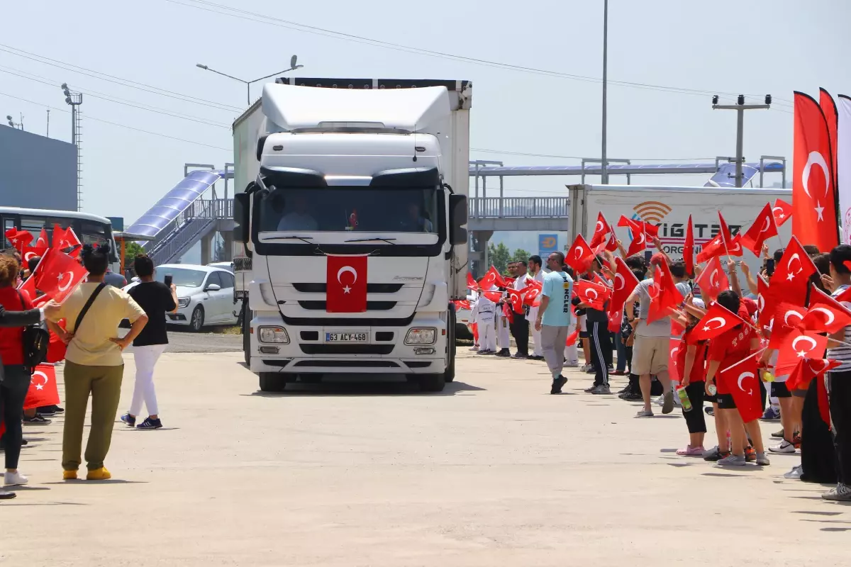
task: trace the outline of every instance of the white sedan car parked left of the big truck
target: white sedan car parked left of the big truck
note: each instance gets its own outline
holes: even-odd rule
[[[177,312],[167,313],[171,325],[185,325],[200,332],[208,325],[236,325],[242,309],[241,301],[233,303],[233,274],[226,269],[192,264],[157,266],[154,279],[165,281],[171,275],[177,286]],[[127,291],[139,285],[134,281]]]

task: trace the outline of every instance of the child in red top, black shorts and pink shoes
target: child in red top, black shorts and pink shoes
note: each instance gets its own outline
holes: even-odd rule
[[[691,302],[697,308],[704,307],[700,299],[691,299]],[[685,411],[683,408],[683,417],[686,418],[686,426],[688,426],[688,446],[678,450],[677,455],[703,456],[703,439],[706,434],[706,419],[703,415],[705,360],[706,346],[709,341],[696,340],[692,337],[694,326],[700,322],[697,317],[687,314],[685,322],[686,330],[677,349],[677,368],[683,369],[680,383],[688,394],[692,409]]]

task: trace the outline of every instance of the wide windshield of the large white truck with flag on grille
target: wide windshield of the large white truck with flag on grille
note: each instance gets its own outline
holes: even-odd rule
[[[273,190],[260,202],[260,232],[290,230],[437,234],[437,188]]]

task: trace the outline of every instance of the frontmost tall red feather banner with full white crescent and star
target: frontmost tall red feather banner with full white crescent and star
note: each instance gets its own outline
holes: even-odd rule
[[[819,103],[797,91],[793,146],[792,234],[819,250],[832,250],[839,232],[831,135]]]

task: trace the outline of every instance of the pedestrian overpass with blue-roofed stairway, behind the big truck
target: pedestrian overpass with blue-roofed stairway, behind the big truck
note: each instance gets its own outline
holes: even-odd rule
[[[631,165],[614,163],[609,166],[610,175],[625,175],[627,183],[631,176],[639,174],[711,173],[707,186],[733,186],[731,182],[734,164],[727,158],[717,158],[713,164],[648,164]],[[772,160],[772,161],[767,161]],[[594,160],[584,160],[581,166],[556,167],[503,167],[500,162],[471,162],[470,177],[475,179],[469,200],[469,223],[471,236],[471,260],[483,260],[488,241],[494,232],[500,231],[545,231],[568,230],[568,196],[505,196],[503,179],[528,175],[578,175],[585,183],[586,175],[599,175],[600,166]],[[597,160],[598,162],[598,160]],[[626,162],[621,160],[620,162]],[[224,170],[204,164],[186,164],[184,179],[163,196],[162,199],[130,225],[125,234],[127,240],[134,235],[146,239],[144,248],[154,264],[168,264],[181,258],[191,247],[201,242],[202,263],[212,261],[214,236],[219,233],[225,240],[225,252],[231,254],[233,222],[233,199],[228,195],[228,183],[233,177],[233,164]],[[193,167],[203,167],[192,169]],[[785,186],[785,159],[762,156],[759,163],[745,164],[745,181],[759,175],[762,186],[763,173],[782,173]],[[498,196],[488,196],[488,178],[497,178]],[[216,184],[224,182],[224,193],[220,196]],[[567,192],[567,191],[565,191]],[[142,238],[140,238],[142,240]]]

